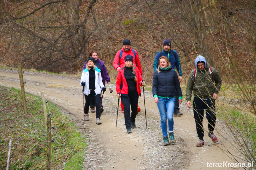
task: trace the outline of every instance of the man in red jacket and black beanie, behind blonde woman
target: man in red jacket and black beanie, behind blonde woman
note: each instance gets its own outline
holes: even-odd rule
[[[139,72],[142,75],[142,69],[141,69],[141,65],[140,65],[140,61],[139,61],[139,54],[137,53],[136,50],[131,48],[131,43],[130,43],[130,40],[128,40],[128,39],[125,39],[123,41],[123,48],[121,50],[117,51],[117,54],[113,61],[113,67],[117,71],[121,71],[121,68],[125,67],[125,56],[127,56],[127,55],[133,56],[133,66],[138,67]],[[122,108],[122,113],[124,113],[124,106],[123,106],[122,101],[121,101],[121,108]],[[138,105],[137,112],[138,113],[140,112],[139,105]]]

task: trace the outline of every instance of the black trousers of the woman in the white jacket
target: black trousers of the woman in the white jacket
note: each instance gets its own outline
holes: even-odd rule
[[[85,95],[85,114],[89,113],[91,98],[95,100],[96,118],[101,119],[101,94],[96,95],[94,90],[91,90],[89,95]]]

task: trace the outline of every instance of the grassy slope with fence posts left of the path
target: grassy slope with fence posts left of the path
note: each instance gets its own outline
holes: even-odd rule
[[[42,103],[41,99],[38,99]],[[9,169],[36,170],[46,167],[43,109],[33,95],[26,94],[26,101],[28,113],[24,114],[20,90],[0,86],[0,151],[6,149],[0,153],[0,170],[6,169],[10,139],[12,148]],[[87,146],[85,137],[81,136],[70,118],[62,114],[56,105],[48,104],[54,127],[51,169],[82,169]],[[21,158],[23,155],[25,156]]]

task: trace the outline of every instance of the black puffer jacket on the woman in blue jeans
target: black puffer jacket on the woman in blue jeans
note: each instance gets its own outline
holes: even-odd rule
[[[152,93],[161,97],[174,97],[177,93],[178,96],[182,96],[178,75],[174,69],[161,69],[154,72]],[[176,90],[175,90],[176,89]]]

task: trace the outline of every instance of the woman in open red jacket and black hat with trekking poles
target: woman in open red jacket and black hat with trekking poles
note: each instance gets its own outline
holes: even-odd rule
[[[118,72],[116,90],[117,97],[121,97],[124,105],[126,133],[131,133],[131,128],[136,128],[137,103],[141,95],[140,86],[145,85],[142,76],[136,67],[133,67],[133,56],[125,56],[125,67]],[[130,116],[131,104],[131,116]]]

